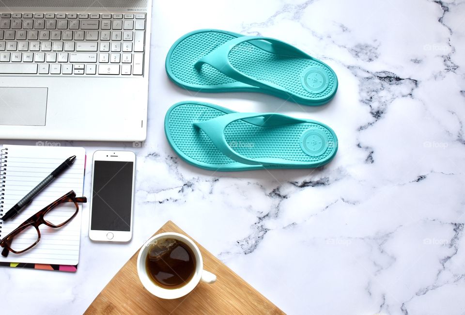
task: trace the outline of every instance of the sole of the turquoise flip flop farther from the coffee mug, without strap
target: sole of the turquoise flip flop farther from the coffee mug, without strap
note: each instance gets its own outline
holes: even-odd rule
[[[261,92],[304,105],[322,105],[331,100],[338,88],[334,71],[325,63],[308,58],[287,57],[271,53],[249,42],[231,50],[229,62],[238,71],[281,87],[264,89],[231,79],[208,64],[202,71],[194,64],[217,47],[242,34],[221,30],[187,33],[171,47],[166,71],[177,85],[198,92]]]

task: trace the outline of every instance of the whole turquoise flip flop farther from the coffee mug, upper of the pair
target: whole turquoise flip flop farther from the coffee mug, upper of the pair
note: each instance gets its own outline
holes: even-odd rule
[[[165,67],[174,83],[198,92],[261,92],[316,106],[338,89],[334,71],[296,47],[230,31],[187,33],[171,47]]]

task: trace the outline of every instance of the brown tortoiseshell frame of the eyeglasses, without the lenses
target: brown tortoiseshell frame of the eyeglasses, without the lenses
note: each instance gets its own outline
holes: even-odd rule
[[[56,207],[57,205],[60,205],[62,203],[74,203],[76,205],[76,212],[71,216],[71,218],[69,218],[68,220],[66,220],[66,221],[64,221],[64,222],[62,222],[62,223],[60,223],[58,225],[52,224],[49,221],[44,219],[44,216],[47,214],[48,211],[52,210],[54,207]],[[39,212],[37,212],[36,214],[31,216],[31,218],[29,218],[28,220],[21,223],[15,230],[13,230],[13,232],[11,232],[7,236],[3,237],[2,240],[0,240],[0,246],[3,247],[3,250],[1,251],[1,255],[4,256],[4,257],[7,257],[9,252],[14,252],[15,254],[20,254],[22,252],[26,252],[26,251],[30,250],[32,247],[37,245],[37,243],[40,241],[39,226],[41,224],[45,224],[45,225],[47,225],[49,227],[53,227],[53,228],[62,227],[63,225],[65,225],[69,221],[73,220],[74,217],[76,217],[76,215],[78,214],[78,211],[79,211],[78,203],[87,203],[87,198],[86,197],[76,197],[76,192],[74,192],[74,190],[71,190],[67,194],[63,195],[62,197],[60,197],[57,200],[55,200],[54,202],[52,202],[50,205],[47,205],[45,208],[43,208],[42,210],[40,210]],[[31,246],[29,246],[28,248],[26,248],[25,250],[22,250],[22,251],[13,250],[10,247],[11,243],[13,241],[13,238],[16,235],[18,235],[19,233],[21,233],[23,230],[25,230],[26,228],[30,227],[30,226],[35,227],[35,229],[37,230],[38,237],[37,237],[37,240],[35,241],[35,243],[32,244]]]

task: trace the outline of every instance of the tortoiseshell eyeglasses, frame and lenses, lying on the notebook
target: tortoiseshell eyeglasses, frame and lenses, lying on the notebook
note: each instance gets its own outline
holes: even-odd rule
[[[86,202],[86,197],[77,198],[74,190],[71,190],[5,236],[0,241],[0,246],[3,247],[1,255],[7,257],[9,252],[19,254],[30,250],[40,241],[39,226],[41,224],[52,228],[62,227],[76,217],[79,211],[78,203]]]

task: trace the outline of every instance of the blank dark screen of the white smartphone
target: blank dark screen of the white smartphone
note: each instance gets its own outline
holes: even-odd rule
[[[91,230],[131,230],[132,171],[133,162],[94,162]]]

